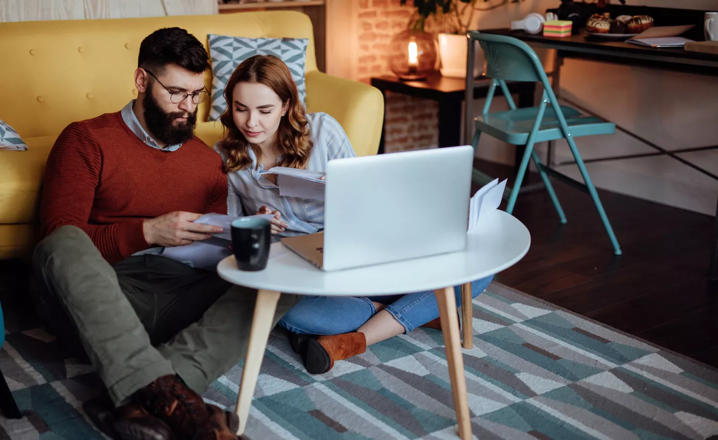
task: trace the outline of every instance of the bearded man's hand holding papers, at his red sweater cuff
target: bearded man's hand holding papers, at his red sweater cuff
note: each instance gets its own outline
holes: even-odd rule
[[[222,232],[219,226],[192,223],[200,217],[201,214],[177,211],[144,220],[144,239],[151,245],[182,246],[193,241],[207,240],[210,234]]]

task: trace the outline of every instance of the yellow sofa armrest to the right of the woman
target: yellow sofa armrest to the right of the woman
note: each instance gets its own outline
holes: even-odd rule
[[[377,88],[314,70],[307,73],[307,112],[322,111],[344,128],[357,156],[376,154],[384,122]]]

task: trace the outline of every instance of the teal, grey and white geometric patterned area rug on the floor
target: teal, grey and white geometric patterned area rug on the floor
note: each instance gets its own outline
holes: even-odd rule
[[[463,350],[477,439],[708,439],[718,370],[497,283],[474,301]],[[6,335],[0,368],[25,417],[0,439],[102,439],[81,402],[101,390],[42,329]],[[236,401],[241,365],[202,397]],[[309,375],[275,329],[246,434],[252,440],[457,439],[441,332],[416,329]]]

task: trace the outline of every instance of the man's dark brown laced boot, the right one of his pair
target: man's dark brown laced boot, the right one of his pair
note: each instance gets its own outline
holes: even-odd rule
[[[191,440],[210,421],[205,402],[177,375],[157,378],[136,393],[149,413],[167,423],[177,440]]]

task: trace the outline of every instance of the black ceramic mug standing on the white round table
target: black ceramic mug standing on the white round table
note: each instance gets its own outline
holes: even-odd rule
[[[232,251],[241,271],[261,271],[267,266],[271,229],[264,218],[232,220]]]

